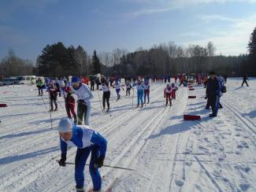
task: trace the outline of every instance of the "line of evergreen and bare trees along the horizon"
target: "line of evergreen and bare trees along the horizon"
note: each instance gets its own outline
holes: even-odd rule
[[[248,54],[239,56],[216,55],[213,42],[206,46],[190,45],[187,48],[174,42],[139,48],[134,52],[115,49],[112,52],[96,50],[90,56],[83,46],[65,46],[62,42],[46,45],[37,58],[20,59],[11,51],[0,63],[1,76],[89,76],[102,73],[106,76],[175,75],[215,71],[221,75],[256,76],[256,28],[250,35]]]

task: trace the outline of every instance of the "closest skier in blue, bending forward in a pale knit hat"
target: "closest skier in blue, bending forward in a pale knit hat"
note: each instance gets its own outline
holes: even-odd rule
[[[76,126],[69,118],[61,119],[58,124],[58,132],[61,141],[61,160],[58,161],[60,166],[65,167],[67,147],[76,146],[75,160],[75,179],[76,191],[84,191],[84,166],[87,158],[91,153],[89,171],[94,186],[94,191],[101,190],[102,179],[98,172],[106,157],[107,141],[97,131],[86,125]]]

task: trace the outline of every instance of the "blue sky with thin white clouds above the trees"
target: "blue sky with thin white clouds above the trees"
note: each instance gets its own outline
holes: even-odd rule
[[[256,0],[2,0],[0,59],[12,48],[35,61],[59,41],[89,54],[212,41],[217,54],[238,55],[255,27]]]

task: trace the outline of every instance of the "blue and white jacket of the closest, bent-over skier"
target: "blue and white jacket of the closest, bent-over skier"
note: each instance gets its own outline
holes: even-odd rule
[[[106,156],[106,138],[102,137],[97,131],[91,129],[86,125],[80,125],[76,127],[73,124],[72,127],[72,138],[66,142],[63,138],[61,140],[61,155],[66,155],[68,146],[76,146],[77,148],[83,149],[88,146],[98,146],[100,156]]]

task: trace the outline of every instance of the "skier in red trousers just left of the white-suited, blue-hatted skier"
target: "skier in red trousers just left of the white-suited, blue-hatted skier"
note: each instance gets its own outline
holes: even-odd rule
[[[72,119],[72,116],[73,116],[74,122],[75,124],[77,124],[77,118],[76,118],[76,112],[75,112],[76,100],[72,96],[72,91],[69,87],[65,86],[65,83],[63,80],[59,82],[59,86],[60,86],[61,96],[65,100],[65,109],[66,109],[67,115],[69,119]],[[72,116],[70,112],[72,113]]]

